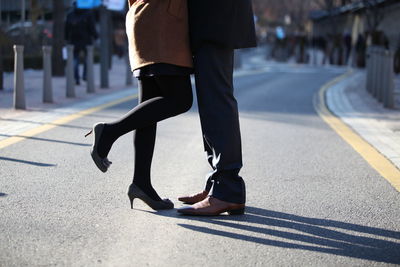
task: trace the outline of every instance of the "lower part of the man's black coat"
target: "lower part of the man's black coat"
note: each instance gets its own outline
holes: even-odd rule
[[[251,0],[188,0],[188,3],[194,51],[204,42],[235,49],[257,45]]]

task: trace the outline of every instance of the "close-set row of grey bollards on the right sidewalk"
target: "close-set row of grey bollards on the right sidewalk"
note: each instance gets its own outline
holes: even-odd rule
[[[367,49],[367,91],[385,108],[395,108],[394,54],[383,47]]]

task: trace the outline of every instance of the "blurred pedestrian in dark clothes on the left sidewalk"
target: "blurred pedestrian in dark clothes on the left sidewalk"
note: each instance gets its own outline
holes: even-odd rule
[[[95,19],[90,9],[79,9],[76,2],[67,15],[65,23],[65,39],[74,46],[74,76],[77,85],[80,84],[79,61],[81,53],[86,59],[86,46],[92,45],[98,34]],[[86,60],[83,61],[83,80],[86,80]]]

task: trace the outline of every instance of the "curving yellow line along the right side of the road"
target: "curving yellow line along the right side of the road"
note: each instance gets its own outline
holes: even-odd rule
[[[314,107],[318,115],[355,151],[357,151],[383,178],[400,192],[400,170],[361,136],[354,132],[342,120],[336,117],[327,107],[325,95],[328,88],[348,77],[349,71],[325,84],[318,92]]]

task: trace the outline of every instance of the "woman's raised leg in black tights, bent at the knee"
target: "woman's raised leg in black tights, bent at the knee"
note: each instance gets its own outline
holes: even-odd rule
[[[107,157],[112,144],[120,136],[184,113],[192,106],[189,76],[143,77],[140,84],[143,92],[158,91],[158,96],[143,101],[121,119],[105,125],[98,148],[100,157]]]

